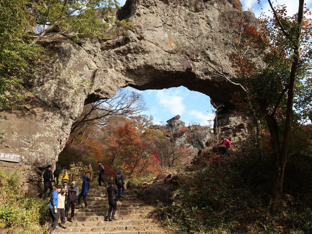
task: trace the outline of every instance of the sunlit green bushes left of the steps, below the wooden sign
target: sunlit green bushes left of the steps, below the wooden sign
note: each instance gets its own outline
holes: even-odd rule
[[[17,171],[0,171],[0,229],[8,233],[43,233],[48,207],[37,197],[24,195]]]

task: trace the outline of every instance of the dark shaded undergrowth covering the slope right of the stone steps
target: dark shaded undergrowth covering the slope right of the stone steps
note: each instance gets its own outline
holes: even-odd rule
[[[270,213],[268,195],[270,158],[258,161],[246,155],[214,160],[205,169],[184,176],[173,204],[158,204],[156,213],[175,234],[310,233],[311,159],[305,155],[286,165],[283,207],[275,215]]]

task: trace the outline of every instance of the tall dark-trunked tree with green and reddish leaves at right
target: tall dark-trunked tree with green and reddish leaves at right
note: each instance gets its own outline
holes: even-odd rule
[[[260,30],[242,24],[249,42],[240,44],[231,58],[246,91],[241,93],[242,98],[256,113],[263,115],[270,131],[273,151],[271,208],[275,212],[283,194],[295,97],[310,85],[312,24],[305,18],[310,12],[304,8],[304,0],[299,0],[298,13],[293,17],[287,16],[285,5],[275,9],[271,1],[268,2],[273,17],[263,16],[264,27]],[[260,61],[246,57],[249,48],[254,49]]]

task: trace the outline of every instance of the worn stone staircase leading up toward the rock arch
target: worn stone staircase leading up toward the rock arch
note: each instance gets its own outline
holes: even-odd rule
[[[73,234],[162,234],[157,223],[149,218],[152,207],[138,201],[136,195],[127,195],[117,201],[115,218],[106,221],[109,209],[105,187],[90,189],[87,195],[88,208],[76,208],[73,222],[66,222],[67,228],[56,229],[56,233]],[[81,200],[81,204],[84,204]],[[68,216],[70,216],[70,211]]]

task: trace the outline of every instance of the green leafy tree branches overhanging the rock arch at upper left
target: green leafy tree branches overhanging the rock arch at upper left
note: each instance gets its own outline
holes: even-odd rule
[[[47,52],[37,44],[46,33],[61,34],[77,42],[81,37],[108,39],[133,30],[132,23],[110,16],[118,4],[116,0],[0,0],[0,108],[22,106],[21,101],[30,94],[23,87],[24,79],[38,72],[32,64],[42,63],[40,58]],[[85,91],[90,82],[67,85],[75,92]]]

